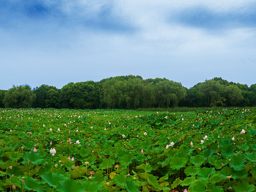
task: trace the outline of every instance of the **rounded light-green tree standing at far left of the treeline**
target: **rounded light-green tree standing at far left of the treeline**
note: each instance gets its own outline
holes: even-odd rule
[[[3,103],[6,108],[30,108],[35,101],[35,94],[29,85],[12,87],[5,93]]]

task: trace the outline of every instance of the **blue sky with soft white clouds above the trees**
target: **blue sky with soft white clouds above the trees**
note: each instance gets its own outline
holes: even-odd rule
[[[255,0],[1,0],[0,89],[114,76],[256,84]]]

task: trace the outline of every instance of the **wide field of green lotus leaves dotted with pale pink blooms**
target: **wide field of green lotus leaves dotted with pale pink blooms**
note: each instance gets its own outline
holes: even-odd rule
[[[256,191],[256,110],[0,109],[0,191]]]

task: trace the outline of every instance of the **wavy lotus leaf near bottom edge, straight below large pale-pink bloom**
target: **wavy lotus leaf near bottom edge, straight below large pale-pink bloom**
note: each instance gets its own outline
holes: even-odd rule
[[[52,186],[54,189],[56,189],[57,184],[61,180],[69,180],[69,177],[65,177],[64,175],[61,175],[59,173],[52,174],[52,172],[44,172],[41,175],[42,183],[48,183],[49,186]]]

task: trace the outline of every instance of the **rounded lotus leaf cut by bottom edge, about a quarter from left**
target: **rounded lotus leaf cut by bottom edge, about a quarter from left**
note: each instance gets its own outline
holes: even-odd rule
[[[56,187],[58,192],[84,192],[84,187],[78,180],[62,180]]]

